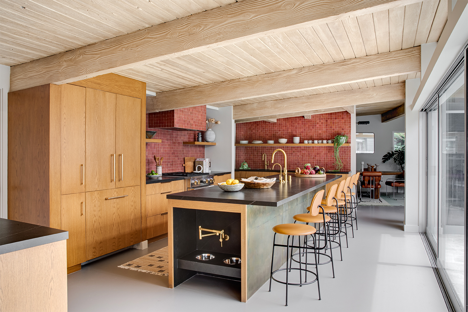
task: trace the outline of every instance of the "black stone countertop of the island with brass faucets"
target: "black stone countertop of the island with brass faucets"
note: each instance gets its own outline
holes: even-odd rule
[[[271,176],[276,177],[275,175]],[[237,192],[225,192],[218,186],[192,191],[168,194],[168,199],[181,199],[212,203],[234,203],[243,205],[278,207],[315,189],[339,179],[341,175],[326,178],[299,178],[292,175],[292,181],[276,182],[270,189],[242,188]]]

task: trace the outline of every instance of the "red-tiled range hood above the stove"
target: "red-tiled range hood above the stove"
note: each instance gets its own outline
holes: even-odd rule
[[[206,106],[148,113],[148,128],[173,131],[206,131]]]

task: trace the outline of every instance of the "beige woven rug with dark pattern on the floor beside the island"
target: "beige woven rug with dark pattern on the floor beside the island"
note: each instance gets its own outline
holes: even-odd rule
[[[119,268],[129,268],[135,271],[151,273],[162,276],[169,276],[168,247],[161,248],[139,257],[133,261],[118,266]]]

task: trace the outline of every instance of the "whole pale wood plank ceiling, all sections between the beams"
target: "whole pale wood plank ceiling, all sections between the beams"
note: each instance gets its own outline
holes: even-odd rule
[[[109,6],[109,2],[105,0],[44,3],[23,0],[21,5],[14,0],[2,0],[0,61],[9,66],[34,61],[234,2],[236,1],[127,0],[116,1]],[[171,90],[221,81],[235,83],[245,77],[331,64],[438,41],[447,20],[447,0],[407,3],[409,4],[364,15],[339,18],[333,22],[297,27],[234,44],[215,46],[115,73],[145,81],[149,91],[170,95]],[[210,105],[240,106],[398,84],[417,77],[420,77],[419,71]],[[356,113],[358,116],[381,114],[403,102],[404,100],[366,103],[357,106]],[[156,110],[158,109],[150,111]],[[333,110],[336,111],[336,108]]]

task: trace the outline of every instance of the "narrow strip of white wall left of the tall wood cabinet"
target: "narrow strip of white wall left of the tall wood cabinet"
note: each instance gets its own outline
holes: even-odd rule
[[[7,212],[7,156],[8,156],[8,92],[10,91],[10,67],[0,65],[0,218],[8,218]]]

